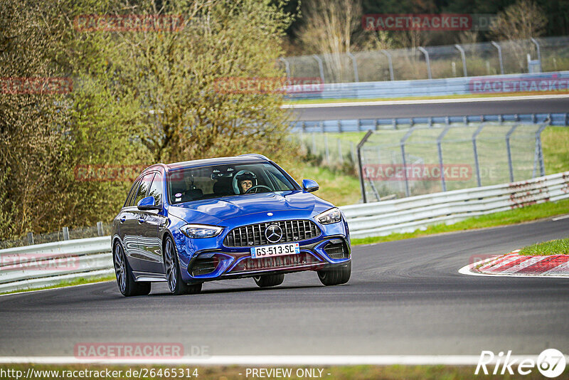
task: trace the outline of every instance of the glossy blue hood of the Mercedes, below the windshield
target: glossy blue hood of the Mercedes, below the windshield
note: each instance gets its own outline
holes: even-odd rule
[[[329,202],[304,191],[280,191],[186,202],[169,206],[168,212],[188,223],[218,224],[252,213],[293,211],[308,218],[333,207]]]

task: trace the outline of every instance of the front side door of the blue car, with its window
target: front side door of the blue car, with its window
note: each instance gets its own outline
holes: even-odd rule
[[[154,197],[154,204],[162,204],[162,174],[153,173],[154,177],[149,185],[146,196]],[[144,251],[139,256],[139,270],[141,273],[157,274],[164,273],[161,241],[159,238],[159,226],[164,224],[166,218],[163,210],[137,210],[137,223],[139,224],[140,250]]]

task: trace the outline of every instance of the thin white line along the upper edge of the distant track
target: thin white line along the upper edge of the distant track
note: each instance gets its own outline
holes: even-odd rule
[[[323,108],[323,107],[358,107],[358,106],[367,106],[367,105],[413,105],[413,104],[470,103],[470,102],[508,102],[511,100],[563,99],[567,97],[569,97],[569,95],[565,94],[528,95],[528,96],[522,95],[522,96],[504,96],[504,97],[459,97],[459,98],[450,98],[450,99],[374,100],[371,102],[285,104],[281,105],[280,107],[281,108]]]

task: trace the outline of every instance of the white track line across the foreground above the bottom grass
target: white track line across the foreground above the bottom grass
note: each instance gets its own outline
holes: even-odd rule
[[[513,355],[511,359],[533,359],[536,356]],[[569,359],[569,357],[568,357]],[[77,359],[75,357],[0,357],[0,364],[186,364],[186,365],[476,365],[479,355],[218,355],[182,357],[180,359]],[[492,363],[495,362],[492,361]]]

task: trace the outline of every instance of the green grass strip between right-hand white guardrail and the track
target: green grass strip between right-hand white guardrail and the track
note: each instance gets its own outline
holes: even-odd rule
[[[544,204],[534,204],[526,206],[523,209],[514,209],[509,211],[501,211],[491,213],[489,215],[477,216],[475,218],[467,218],[458,223],[446,225],[444,223],[428,226],[424,231],[415,231],[411,233],[391,233],[387,236],[374,236],[371,238],[352,239],[352,245],[383,243],[385,241],[396,241],[408,238],[419,238],[421,236],[429,236],[436,233],[456,232],[472,230],[474,228],[488,228],[497,226],[507,226],[509,224],[523,223],[527,221],[535,221],[541,218],[568,213],[569,199],[563,199],[557,202],[548,202]]]

